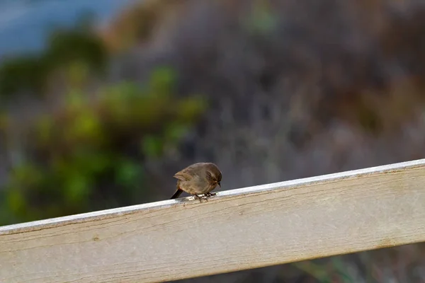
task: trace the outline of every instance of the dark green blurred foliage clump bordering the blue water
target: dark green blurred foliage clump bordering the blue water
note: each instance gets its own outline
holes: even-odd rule
[[[52,74],[67,70],[81,83],[90,71],[103,74],[108,53],[101,39],[85,25],[54,30],[40,54],[11,57],[0,65],[0,97],[10,98],[20,92],[40,95],[45,93]]]

